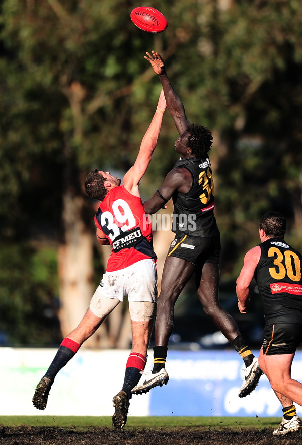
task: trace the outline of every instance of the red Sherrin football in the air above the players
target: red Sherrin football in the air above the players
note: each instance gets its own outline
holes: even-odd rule
[[[134,8],[130,18],[134,25],[147,32],[163,32],[168,26],[166,17],[157,9],[148,6]]]

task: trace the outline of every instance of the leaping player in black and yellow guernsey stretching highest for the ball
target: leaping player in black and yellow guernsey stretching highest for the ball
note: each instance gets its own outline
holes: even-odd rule
[[[159,75],[167,109],[180,135],[175,141],[175,150],[181,158],[168,173],[163,185],[144,203],[145,212],[152,214],[170,198],[173,199],[172,230],[175,239],[165,261],[158,299],[154,367],[152,373],[144,376],[144,382],[133,388],[132,393],[146,393],[168,382],[165,362],[174,323],[174,305],[195,273],[196,290],[205,313],[245,362],[244,381],[239,392],[239,397],[245,397],[256,388],[262,372],[235,320],[218,301],[221,247],[214,216],[214,184],[208,155],[213,137],[204,126],[189,122],[183,103],[168,79],[162,57],[154,51],[146,54],[146,60]]]

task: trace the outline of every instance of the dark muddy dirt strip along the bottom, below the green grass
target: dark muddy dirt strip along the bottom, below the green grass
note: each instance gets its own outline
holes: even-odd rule
[[[197,445],[213,443],[215,445],[296,445],[302,443],[302,431],[296,431],[281,437],[272,435],[267,428],[259,431],[242,428],[174,428],[168,429],[125,429],[116,431],[112,428],[77,428],[55,427],[0,427],[0,443],[5,445]]]

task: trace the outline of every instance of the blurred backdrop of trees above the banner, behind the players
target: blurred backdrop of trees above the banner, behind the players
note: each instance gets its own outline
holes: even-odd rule
[[[188,118],[213,131],[222,290],[236,299],[235,280],[265,211],[286,215],[287,240],[302,249],[299,2],[155,1],[169,22],[158,35],[133,25],[136,6],[1,4],[3,344],[57,345],[88,307],[109,251],[95,242],[97,203],[83,182],[94,168],[122,177],[133,164],[160,92],[145,51],[163,55]],[[173,166],[177,136],[165,114],[143,199]],[[170,239],[155,232],[160,270]],[[120,306],[86,346],[128,347],[129,316]]]

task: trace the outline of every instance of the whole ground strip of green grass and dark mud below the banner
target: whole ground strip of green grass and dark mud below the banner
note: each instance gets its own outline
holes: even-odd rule
[[[3,445],[300,445],[302,430],[272,432],[279,417],[132,417],[115,430],[111,417],[0,416]]]

